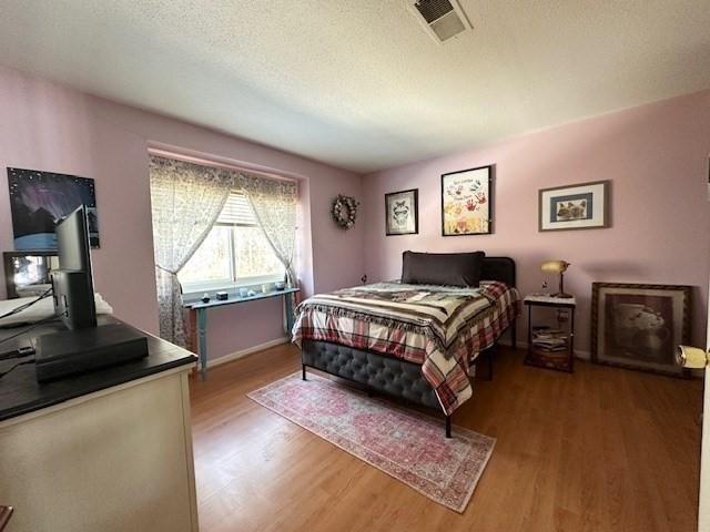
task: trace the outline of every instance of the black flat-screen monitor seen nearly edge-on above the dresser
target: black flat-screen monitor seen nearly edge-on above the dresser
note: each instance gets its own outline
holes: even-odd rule
[[[87,207],[57,224],[59,269],[51,273],[54,311],[68,329],[97,326]]]

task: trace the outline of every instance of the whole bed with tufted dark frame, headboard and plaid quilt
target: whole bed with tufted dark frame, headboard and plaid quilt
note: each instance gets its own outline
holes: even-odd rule
[[[450,416],[473,395],[470,376],[506,331],[515,347],[520,298],[515,262],[483,258],[478,288],[377,283],[313,296],[293,341],[306,368]]]

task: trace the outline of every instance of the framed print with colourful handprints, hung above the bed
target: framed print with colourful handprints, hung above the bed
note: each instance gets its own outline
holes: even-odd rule
[[[442,234],[493,233],[493,166],[442,175]]]

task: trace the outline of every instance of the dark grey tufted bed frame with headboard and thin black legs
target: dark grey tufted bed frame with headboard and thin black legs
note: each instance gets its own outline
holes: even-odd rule
[[[481,280],[498,280],[516,286],[515,262],[509,257],[485,257]],[[515,320],[509,327],[510,340],[516,345]],[[479,354],[478,360],[488,360],[489,378],[493,378],[494,345]],[[434,389],[422,375],[422,366],[373,351],[364,351],[328,341],[304,340],[301,346],[303,379],[306,368],[341,377],[364,385],[371,390],[386,393],[423,407],[440,406]],[[446,437],[452,437],[452,419],[446,416]]]

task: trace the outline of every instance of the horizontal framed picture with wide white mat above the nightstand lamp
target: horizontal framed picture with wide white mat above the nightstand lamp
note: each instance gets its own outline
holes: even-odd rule
[[[542,188],[539,231],[609,227],[609,181]]]

